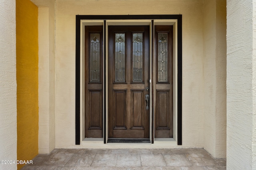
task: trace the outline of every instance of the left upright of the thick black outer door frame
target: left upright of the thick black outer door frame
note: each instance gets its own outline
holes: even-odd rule
[[[80,19],[76,16],[76,145],[80,145]]]

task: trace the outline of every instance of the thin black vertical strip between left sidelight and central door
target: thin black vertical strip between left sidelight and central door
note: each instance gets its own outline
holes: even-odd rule
[[[103,32],[104,32],[104,37],[103,37],[103,39],[104,39],[104,45],[103,45],[103,48],[104,48],[104,84],[103,84],[103,86],[104,86],[104,99],[103,99],[103,101],[104,101],[104,135],[103,135],[103,137],[104,137],[104,144],[106,144],[107,143],[107,137],[106,137],[106,134],[107,134],[107,121],[106,121],[106,20],[104,20],[104,25],[103,25]]]

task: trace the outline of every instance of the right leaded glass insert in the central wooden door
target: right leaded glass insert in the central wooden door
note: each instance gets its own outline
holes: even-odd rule
[[[132,82],[143,82],[143,33],[132,33]]]

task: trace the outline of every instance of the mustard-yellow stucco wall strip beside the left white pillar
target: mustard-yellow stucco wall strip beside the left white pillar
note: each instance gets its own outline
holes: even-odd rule
[[[16,64],[17,160],[32,160],[38,154],[38,7],[30,0],[16,0]]]

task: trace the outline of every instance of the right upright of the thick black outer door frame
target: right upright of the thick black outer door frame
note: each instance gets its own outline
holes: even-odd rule
[[[178,145],[182,145],[182,15],[178,16]]]

